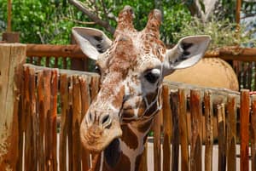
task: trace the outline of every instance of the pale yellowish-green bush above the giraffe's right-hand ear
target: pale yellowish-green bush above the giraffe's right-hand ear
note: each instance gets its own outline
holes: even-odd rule
[[[232,23],[228,19],[212,19],[207,23],[203,23],[198,18],[193,18],[189,22],[183,23],[183,26],[180,32],[175,33],[176,42],[179,38],[189,35],[210,35],[212,37],[212,43],[209,49],[236,46],[243,43],[255,43],[255,40],[250,39],[250,35],[238,37],[236,23]],[[244,32],[243,26],[241,26],[241,32]]]

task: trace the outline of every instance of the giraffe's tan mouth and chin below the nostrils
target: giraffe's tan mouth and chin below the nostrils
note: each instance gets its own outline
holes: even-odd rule
[[[108,128],[100,128],[98,125],[88,127],[85,123],[80,127],[80,138],[84,148],[92,152],[104,151],[113,140],[122,136],[122,129],[118,121],[113,120]]]

